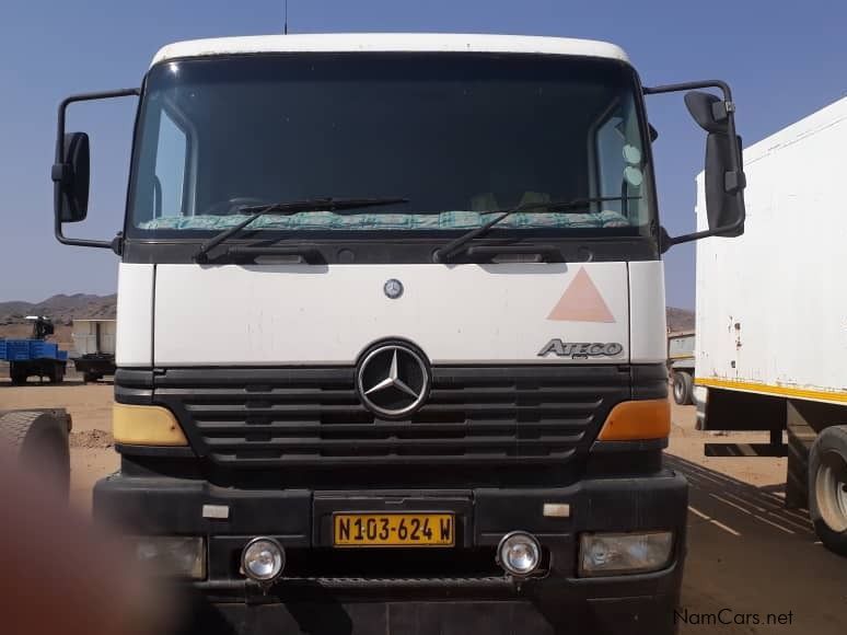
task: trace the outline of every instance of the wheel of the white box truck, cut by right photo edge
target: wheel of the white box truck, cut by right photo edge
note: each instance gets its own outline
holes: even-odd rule
[[[809,515],[824,546],[847,556],[847,426],[826,428],[812,446]]]

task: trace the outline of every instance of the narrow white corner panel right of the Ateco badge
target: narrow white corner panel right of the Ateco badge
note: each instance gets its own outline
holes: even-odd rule
[[[668,326],[664,265],[661,261],[629,263],[629,310],[631,362],[664,361],[668,357]]]

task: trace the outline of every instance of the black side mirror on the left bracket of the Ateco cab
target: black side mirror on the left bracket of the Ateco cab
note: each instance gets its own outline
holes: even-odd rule
[[[85,132],[65,135],[60,163],[53,165],[54,207],[59,222],[85,220],[89,211],[91,155]]]

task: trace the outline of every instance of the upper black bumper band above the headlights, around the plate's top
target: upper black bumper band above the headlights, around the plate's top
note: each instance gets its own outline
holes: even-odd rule
[[[313,522],[334,510],[387,509],[380,503],[384,498],[409,501],[393,503],[394,511],[434,509],[440,505],[472,517],[474,544],[486,544],[488,541],[480,540],[484,534],[514,529],[575,534],[678,528],[685,526],[687,513],[687,484],[672,472],[583,480],[566,487],[391,493],[235,489],[199,478],[130,477],[118,473],[95,485],[93,511],[96,518],[104,517],[140,533],[298,535],[305,536],[305,544],[329,546],[325,532],[318,532]],[[570,517],[545,517],[545,503],[570,505]],[[229,506],[229,517],[204,518],[204,505]]]

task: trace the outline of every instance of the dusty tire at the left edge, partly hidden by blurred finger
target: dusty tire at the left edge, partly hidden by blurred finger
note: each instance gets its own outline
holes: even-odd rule
[[[70,488],[68,425],[43,412],[13,412],[0,416],[0,447],[16,457],[19,465],[38,474],[62,496]]]

